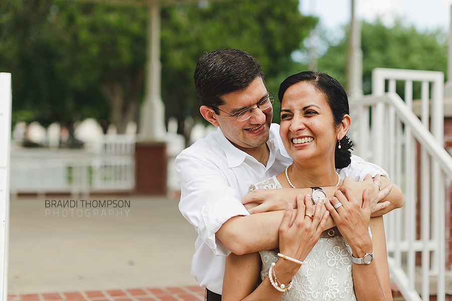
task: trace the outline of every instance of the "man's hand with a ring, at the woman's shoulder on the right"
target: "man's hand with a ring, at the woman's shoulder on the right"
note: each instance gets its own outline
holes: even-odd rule
[[[374,216],[374,213],[388,208],[391,204],[389,201],[383,201],[383,199],[391,192],[393,185],[388,184],[384,186],[380,175],[376,175],[374,178],[371,175],[367,175],[363,182],[355,182],[352,178],[345,178],[342,186],[351,187],[357,199],[364,199],[363,192],[368,188],[372,216]]]

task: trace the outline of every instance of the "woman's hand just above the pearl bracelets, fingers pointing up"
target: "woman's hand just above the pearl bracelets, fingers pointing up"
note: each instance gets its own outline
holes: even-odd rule
[[[304,201],[303,197],[297,196],[297,207],[291,223],[293,206],[286,206],[279,227],[279,250],[284,255],[303,261],[318,241],[329,214],[321,202],[313,206],[309,195],[304,197]]]

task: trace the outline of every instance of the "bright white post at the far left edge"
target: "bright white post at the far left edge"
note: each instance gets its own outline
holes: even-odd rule
[[[0,73],[0,297],[8,300],[11,73]]]

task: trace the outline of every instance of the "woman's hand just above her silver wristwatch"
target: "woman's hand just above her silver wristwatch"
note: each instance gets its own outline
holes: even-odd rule
[[[345,194],[344,194],[344,193]],[[349,187],[334,193],[334,197],[325,203],[337,229],[352,248],[355,257],[372,252],[372,240],[369,235],[371,206],[369,190],[363,193],[363,200],[355,197]]]

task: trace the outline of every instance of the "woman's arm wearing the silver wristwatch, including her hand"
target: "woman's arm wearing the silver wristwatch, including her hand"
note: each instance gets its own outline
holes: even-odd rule
[[[353,196],[350,189],[344,191],[345,195],[342,192],[336,193],[335,197],[325,204],[326,208],[352,248],[354,257],[360,258],[366,253],[374,252],[374,259],[370,264],[352,265],[357,300],[392,300],[383,218],[378,217],[370,222],[370,200],[367,191],[362,202]],[[339,203],[342,205],[338,205]],[[369,225],[372,239],[368,231]]]

